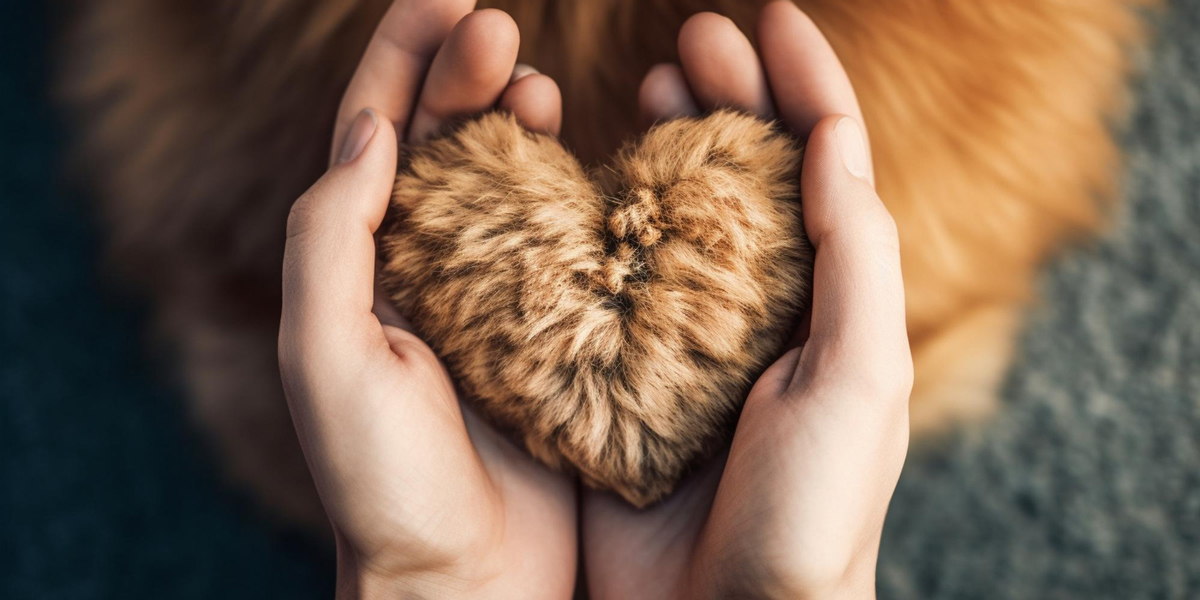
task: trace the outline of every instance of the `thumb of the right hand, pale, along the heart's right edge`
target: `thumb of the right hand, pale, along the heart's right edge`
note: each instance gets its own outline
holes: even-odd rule
[[[856,121],[820,121],[800,172],[804,227],[816,251],[812,318],[802,361],[821,362],[822,376],[902,385],[911,382],[912,359],[900,242],[866,172],[866,148]]]

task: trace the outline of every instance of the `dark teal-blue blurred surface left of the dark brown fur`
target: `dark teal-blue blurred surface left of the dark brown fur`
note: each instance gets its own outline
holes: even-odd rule
[[[329,598],[228,491],[65,185],[42,2],[0,19],[0,598]]]

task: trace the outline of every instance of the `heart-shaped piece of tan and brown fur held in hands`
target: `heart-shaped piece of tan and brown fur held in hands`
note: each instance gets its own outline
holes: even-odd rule
[[[487,418],[644,506],[728,442],[809,304],[799,158],[721,110],[589,176],[485,114],[406,150],[382,281]]]

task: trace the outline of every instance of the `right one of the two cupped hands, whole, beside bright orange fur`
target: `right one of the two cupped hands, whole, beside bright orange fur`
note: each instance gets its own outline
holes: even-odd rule
[[[874,598],[908,442],[912,358],[895,224],[875,193],[862,113],[838,58],[791,2],[768,5],[760,55],[732,22],[691,18],[682,67],[652,70],[648,121],[734,106],[806,138],[800,193],[816,250],[799,348],[755,384],[728,452],[662,504],[584,492],[595,599]]]

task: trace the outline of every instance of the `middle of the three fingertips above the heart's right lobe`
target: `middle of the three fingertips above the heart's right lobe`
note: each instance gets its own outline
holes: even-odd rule
[[[679,30],[679,62],[702,107],[774,113],[758,55],[728,18],[712,12],[689,18]]]

